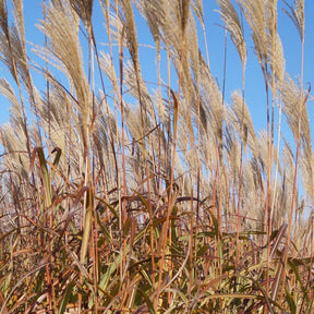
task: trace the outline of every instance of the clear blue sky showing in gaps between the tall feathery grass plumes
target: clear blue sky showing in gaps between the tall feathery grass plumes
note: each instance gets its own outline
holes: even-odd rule
[[[97,1],[95,1],[97,2]],[[204,0],[204,17],[206,23],[207,32],[207,43],[209,50],[209,61],[210,70],[213,75],[217,77],[220,86],[222,84],[222,71],[224,71],[224,40],[225,31],[217,24],[222,25],[220,15],[217,10],[217,5],[214,0]],[[293,1],[288,1],[293,4]],[[26,39],[38,45],[44,44],[44,36],[35,27],[38,24],[38,19],[41,19],[41,7],[39,5],[41,1],[39,0],[26,0],[24,1],[24,14],[25,14],[25,28],[26,28]],[[301,65],[301,46],[299,40],[298,32],[288,17],[288,15],[281,10],[283,2],[278,0],[278,32],[281,37],[285,58],[286,58],[286,69],[292,78],[299,77],[300,65]],[[97,39],[99,43],[106,43],[106,37],[104,36],[104,20],[100,10],[94,10],[95,21],[99,21],[99,26],[97,27]],[[138,21],[138,41],[141,44],[154,44],[152,36],[145,27],[145,21],[135,14]],[[246,38],[250,38],[250,32],[246,28]],[[314,1],[305,0],[305,68],[304,68],[304,83],[310,82],[313,85],[314,82]],[[203,35],[200,32],[200,41],[202,46]],[[98,45],[99,49],[106,51],[105,46]],[[29,51],[29,49],[28,49]],[[106,51],[107,52],[107,51]],[[257,58],[253,52],[253,44],[249,41],[247,45],[247,65],[246,65],[246,84],[245,84],[245,99],[250,107],[251,114],[253,118],[254,125],[257,130],[265,129],[266,126],[266,99],[265,99],[265,86],[263,81],[263,75],[261,68],[257,62]],[[157,82],[155,76],[155,70],[152,69],[152,64],[155,64],[155,52],[149,48],[140,49],[140,61],[143,69],[144,78],[147,81]],[[153,63],[152,63],[153,62]],[[2,77],[9,77],[8,72],[3,70],[3,64],[0,65],[0,75]],[[35,84],[40,89],[43,80],[40,76],[35,74]],[[238,53],[231,43],[228,40],[228,59],[227,59],[227,89],[226,89],[226,100],[228,101],[231,92],[241,88],[241,68]],[[313,87],[314,88],[314,87]],[[313,102],[309,102],[309,116],[313,120],[314,109],[312,109]],[[8,120],[10,105],[0,96],[0,123]],[[314,129],[314,128],[313,128]]]

